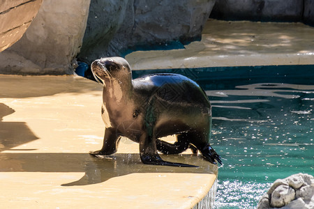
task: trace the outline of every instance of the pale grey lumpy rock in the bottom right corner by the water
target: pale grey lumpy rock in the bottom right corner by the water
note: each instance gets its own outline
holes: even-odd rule
[[[276,180],[257,206],[257,209],[266,208],[314,208],[313,176],[298,173]]]

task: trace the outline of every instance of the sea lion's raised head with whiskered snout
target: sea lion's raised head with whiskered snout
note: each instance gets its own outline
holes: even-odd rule
[[[131,77],[128,61],[118,56],[96,59],[91,63],[91,72],[97,80],[103,82],[104,86],[107,82],[112,82],[112,79],[126,82],[124,79]]]

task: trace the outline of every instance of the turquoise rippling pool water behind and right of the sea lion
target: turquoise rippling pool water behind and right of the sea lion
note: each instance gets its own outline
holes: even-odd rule
[[[213,106],[211,145],[223,157],[215,208],[256,208],[278,178],[314,175],[314,65],[135,70],[195,80]],[[306,75],[306,76],[304,76]]]

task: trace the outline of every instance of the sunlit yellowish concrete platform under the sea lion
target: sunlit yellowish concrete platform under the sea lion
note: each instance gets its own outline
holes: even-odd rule
[[[142,164],[126,138],[114,155],[89,155],[103,143],[96,82],[0,75],[0,89],[1,208],[191,208],[216,179],[218,168],[190,152],[162,157],[198,168]]]

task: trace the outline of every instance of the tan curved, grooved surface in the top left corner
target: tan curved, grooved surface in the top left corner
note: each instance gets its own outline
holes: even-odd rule
[[[0,3],[0,52],[19,40],[36,16],[42,0],[2,0]]]

